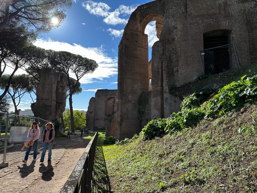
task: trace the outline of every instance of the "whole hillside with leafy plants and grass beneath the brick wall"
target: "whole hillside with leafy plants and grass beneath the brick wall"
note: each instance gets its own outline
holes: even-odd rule
[[[173,88],[188,92],[180,112],[115,145],[99,140],[93,192],[256,193],[255,72],[251,65]],[[210,84],[216,95],[199,92]]]

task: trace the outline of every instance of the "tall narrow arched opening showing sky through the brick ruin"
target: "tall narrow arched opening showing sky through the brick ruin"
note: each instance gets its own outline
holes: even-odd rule
[[[149,89],[152,90],[152,46],[159,40],[163,27],[163,18],[158,14],[149,14],[143,21],[141,29],[148,36],[148,83]]]

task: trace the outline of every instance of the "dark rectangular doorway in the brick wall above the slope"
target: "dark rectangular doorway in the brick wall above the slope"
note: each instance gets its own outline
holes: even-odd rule
[[[229,44],[229,30],[216,30],[203,34],[205,74],[218,74],[230,69]]]

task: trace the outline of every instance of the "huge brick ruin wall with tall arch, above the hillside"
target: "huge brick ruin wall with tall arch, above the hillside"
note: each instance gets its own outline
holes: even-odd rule
[[[257,23],[254,0],[156,0],[131,14],[118,47],[118,99],[116,138],[130,138],[141,131],[141,118],[168,117],[180,110],[181,100],[171,95],[175,86],[194,81],[204,73],[198,50],[204,36],[228,33],[240,66],[257,60]],[[149,77],[146,25],[156,21],[159,41],[152,46],[152,77]],[[235,54],[229,68],[238,68]],[[149,90],[145,115],[138,112],[139,96]],[[146,82],[147,81],[147,82]],[[150,112],[150,113],[149,113]]]

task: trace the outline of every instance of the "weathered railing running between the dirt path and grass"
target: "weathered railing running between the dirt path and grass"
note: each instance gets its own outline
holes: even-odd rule
[[[92,174],[96,153],[98,132],[93,136],[60,193],[89,193],[92,186]]]

